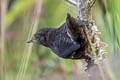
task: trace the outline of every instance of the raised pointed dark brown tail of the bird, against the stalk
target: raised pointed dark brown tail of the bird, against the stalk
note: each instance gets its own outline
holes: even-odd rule
[[[69,13],[67,13],[66,23],[68,26],[68,32],[73,40],[76,40],[78,36],[83,33],[82,28],[86,26],[85,21],[73,18]]]

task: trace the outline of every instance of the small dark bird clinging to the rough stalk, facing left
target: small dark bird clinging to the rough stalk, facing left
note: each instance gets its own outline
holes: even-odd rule
[[[84,28],[86,21],[73,18],[68,13],[66,22],[59,28],[43,28],[34,34],[27,43],[35,42],[50,48],[56,55],[64,59],[85,59],[88,40]]]

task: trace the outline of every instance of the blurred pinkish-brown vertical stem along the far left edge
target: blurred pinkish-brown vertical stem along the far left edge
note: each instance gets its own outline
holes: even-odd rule
[[[6,0],[1,0],[1,80],[5,80],[5,14]]]

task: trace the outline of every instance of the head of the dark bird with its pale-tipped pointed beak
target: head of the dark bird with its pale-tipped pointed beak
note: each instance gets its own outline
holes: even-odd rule
[[[27,40],[27,43],[37,43],[37,44],[41,44],[44,46],[48,46],[47,44],[47,35],[48,35],[48,29],[44,28],[44,29],[40,29],[39,31],[37,31],[31,39]]]

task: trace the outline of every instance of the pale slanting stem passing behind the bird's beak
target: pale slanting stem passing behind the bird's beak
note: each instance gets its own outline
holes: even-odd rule
[[[39,24],[39,17],[40,17],[40,13],[41,13],[41,9],[42,9],[42,0],[37,0],[36,4],[35,4],[35,11],[34,11],[34,19],[33,19],[33,23],[32,23],[32,35],[36,32],[38,24]],[[29,34],[31,34],[29,33]],[[24,50],[24,55],[23,55],[23,59],[21,62],[21,66],[17,75],[17,80],[24,80],[25,78],[25,73],[27,71],[27,67],[28,67],[28,62],[29,62],[29,58],[31,55],[31,51],[32,51],[32,45],[33,44],[26,44],[26,48]]]

